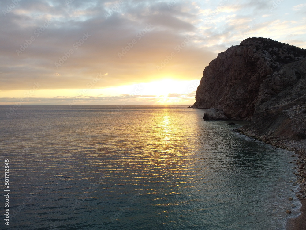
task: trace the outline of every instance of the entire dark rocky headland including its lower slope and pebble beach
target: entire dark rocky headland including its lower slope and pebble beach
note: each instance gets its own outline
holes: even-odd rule
[[[297,197],[306,209],[305,102],[306,50],[267,38],[248,38],[219,53],[204,69],[191,107],[209,109],[204,117],[212,118],[205,120],[250,121],[237,131],[295,151],[299,160],[290,163],[297,169]],[[299,218],[306,220],[305,212]],[[291,228],[306,229],[306,221],[302,222],[290,223]]]

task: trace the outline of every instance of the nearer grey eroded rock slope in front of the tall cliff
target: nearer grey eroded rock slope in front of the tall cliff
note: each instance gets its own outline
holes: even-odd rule
[[[286,64],[264,80],[252,122],[240,130],[268,139],[306,139],[306,59]]]

